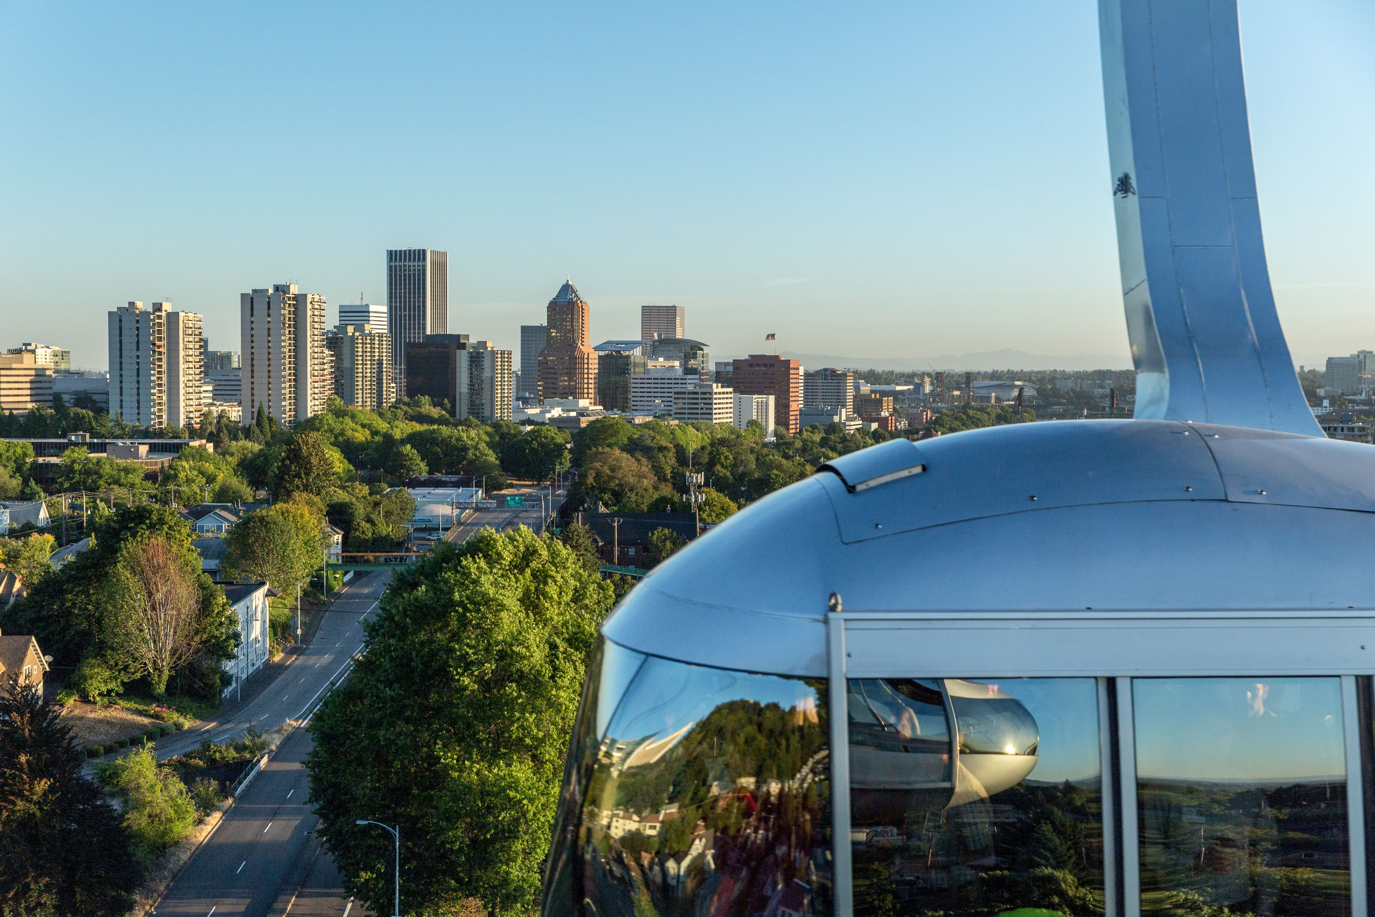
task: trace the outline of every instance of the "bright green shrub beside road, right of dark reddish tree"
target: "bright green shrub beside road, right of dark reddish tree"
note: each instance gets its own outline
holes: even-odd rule
[[[170,769],[158,766],[151,748],[99,764],[96,775],[120,795],[124,825],[146,865],[191,833],[195,803],[186,784]]]

